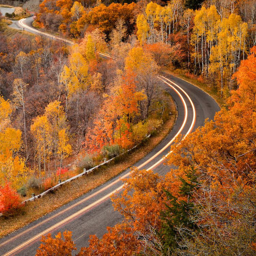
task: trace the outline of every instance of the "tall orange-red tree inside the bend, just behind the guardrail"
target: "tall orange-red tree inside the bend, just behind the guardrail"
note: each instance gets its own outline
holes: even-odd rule
[[[95,152],[104,145],[115,143],[123,148],[129,147],[133,143],[131,128],[139,114],[138,102],[143,99],[145,95],[136,91],[134,76],[128,72],[103,102],[100,118],[87,134],[85,148]]]

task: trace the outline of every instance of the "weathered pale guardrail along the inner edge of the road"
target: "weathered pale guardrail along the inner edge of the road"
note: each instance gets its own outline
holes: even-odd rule
[[[146,138],[150,138],[150,136],[151,136],[151,134],[149,134],[148,136],[146,136]],[[27,199],[27,200],[25,200],[25,201],[23,201],[23,203],[26,203],[26,202],[29,202],[29,201],[34,201],[34,200],[36,200],[36,199],[39,199],[39,198],[41,198],[41,197],[47,195],[49,192],[51,192],[51,191],[57,189],[59,186],[62,186],[62,185],[64,185],[64,184],[68,183],[68,182],[71,182],[71,181],[73,181],[73,180],[79,178],[79,177],[82,177],[83,175],[87,175],[88,173],[93,172],[95,169],[99,168],[100,166],[106,165],[107,163],[113,161],[113,160],[116,159],[117,157],[122,156],[122,155],[124,155],[124,154],[130,152],[131,150],[133,150],[134,148],[138,147],[139,145],[140,145],[140,144],[137,144],[137,145],[135,145],[134,147],[130,148],[129,150],[127,150],[127,151],[125,151],[125,152],[119,154],[118,156],[115,156],[115,157],[113,157],[113,158],[111,158],[111,159],[109,159],[109,160],[107,160],[107,161],[104,161],[103,163],[100,163],[99,165],[97,165],[97,166],[95,166],[95,167],[93,167],[93,168],[91,168],[91,169],[89,169],[89,170],[85,170],[84,172],[79,173],[79,174],[77,174],[77,175],[75,175],[75,176],[69,178],[69,179],[66,180],[66,181],[62,181],[62,182],[60,182],[59,184],[55,185],[54,187],[51,187],[51,188],[45,190],[43,193],[41,193],[41,194],[39,194],[39,195],[37,195],[37,196],[31,197],[31,198],[29,198],[29,199]]]

